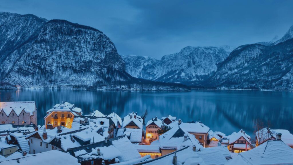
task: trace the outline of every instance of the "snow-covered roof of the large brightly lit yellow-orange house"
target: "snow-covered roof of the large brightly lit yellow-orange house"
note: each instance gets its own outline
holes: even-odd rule
[[[47,110],[47,113],[50,113],[52,111],[71,111],[75,116],[78,116],[78,114],[76,113],[82,114],[81,108],[75,107],[74,104],[71,104],[69,102],[62,102],[60,104],[56,104],[53,108]]]

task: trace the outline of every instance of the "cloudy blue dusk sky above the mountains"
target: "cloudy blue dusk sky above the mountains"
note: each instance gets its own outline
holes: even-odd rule
[[[281,38],[293,1],[1,0],[0,11],[65,19],[97,28],[120,55],[161,59],[186,46],[237,47]]]

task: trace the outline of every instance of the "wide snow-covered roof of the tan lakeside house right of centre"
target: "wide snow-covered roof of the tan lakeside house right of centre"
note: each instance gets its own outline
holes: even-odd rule
[[[189,133],[202,133],[206,134],[209,132],[209,127],[207,127],[202,122],[194,122],[194,123],[183,123],[181,121],[181,124],[178,124],[178,120],[172,122],[169,124],[170,127],[176,127],[179,126],[181,129],[189,132]]]

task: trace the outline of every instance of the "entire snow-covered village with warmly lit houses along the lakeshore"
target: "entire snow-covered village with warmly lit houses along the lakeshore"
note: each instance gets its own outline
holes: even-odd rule
[[[65,101],[47,110],[43,126],[36,114],[33,101],[0,102],[1,165],[293,164],[293,134],[284,129],[225,134],[172,115],[83,114]]]

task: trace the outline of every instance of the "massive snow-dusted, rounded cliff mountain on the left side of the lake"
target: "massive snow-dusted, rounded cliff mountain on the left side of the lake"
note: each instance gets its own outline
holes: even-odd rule
[[[131,79],[113,42],[97,29],[34,15],[1,13],[0,20],[2,83],[94,86]]]

